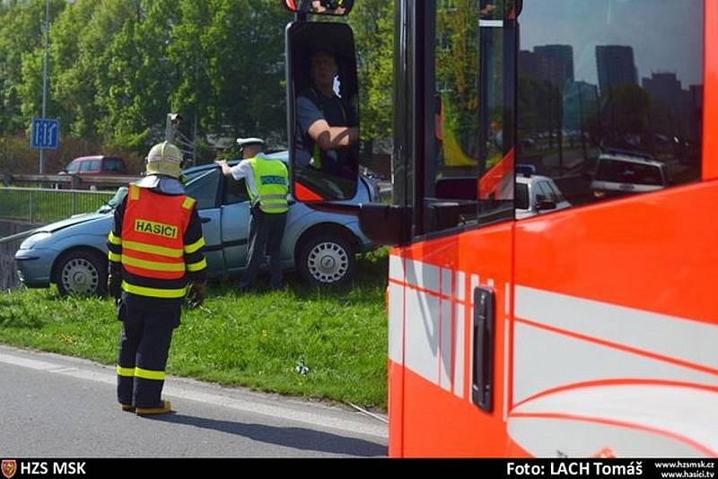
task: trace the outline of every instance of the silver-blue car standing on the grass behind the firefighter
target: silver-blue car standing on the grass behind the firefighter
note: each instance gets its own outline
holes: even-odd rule
[[[268,155],[287,161],[287,153]],[[236,161],[235,161],[236,163]],[[234,164],[230,162],[230,164]],[[226,179],[213,163],[184,171],[188,196],[197,200],[205,233],[210,277],[240,274],[247,257],[250,201],[244,180]],[[15,262],[22,283],[47,288],[56,283],[61,294],[102,294],[107,283],[107,247],[112,212],[127,188],[96,213],[76,215],[42,226],[22,242]],[[345,203],[379,201],[379,188],[363,178],[355,197]],[[355,254],[374,248],[353,215],[313,210],[290,199],[282,265],[296,269],[314,284],[346,283],[354,274]]]

